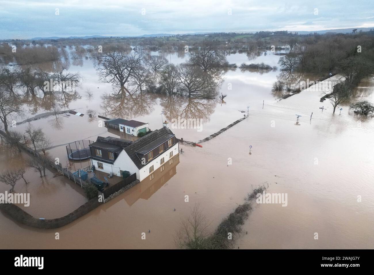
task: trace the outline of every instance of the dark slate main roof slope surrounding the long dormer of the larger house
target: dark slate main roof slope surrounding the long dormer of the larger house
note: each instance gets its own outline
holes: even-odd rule
[[[171,135],[171,137],[174,136],[173,132],[169,128],[162,127],[159,130],[150,132],[144,137],[135,140],[132,144],[125,148],[126,153],[129,155],[129,157],[135,163],[138,169],[142,168],[144,165],[141,163],[140,158],[137,156],[137,152],[141,150],[143,147],[147,146],[148,144],[153,143],[153,141],[163,139],[166,135]]]

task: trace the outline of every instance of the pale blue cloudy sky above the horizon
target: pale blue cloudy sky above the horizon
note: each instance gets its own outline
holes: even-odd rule
[[[353,27],[374,0],[0,0],[0,39]]]

